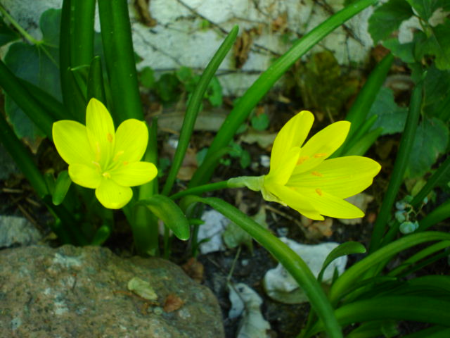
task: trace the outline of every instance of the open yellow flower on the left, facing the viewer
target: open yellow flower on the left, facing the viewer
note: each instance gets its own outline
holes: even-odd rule
[[[96,99],[87,105],[86,126],[60,120],[52,134],[72,181],[96,189],[106,208],[122,208],[133,196],[130,187],[153,180],[158,172],[153,163],[140,161],[148,144],[146,124],[131,118],[115,132],[113,118]]]

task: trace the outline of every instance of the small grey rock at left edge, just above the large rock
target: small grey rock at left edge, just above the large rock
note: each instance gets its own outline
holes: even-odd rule
[[[0,248],[37,244],[40,232],[26,218],[0,216]]]

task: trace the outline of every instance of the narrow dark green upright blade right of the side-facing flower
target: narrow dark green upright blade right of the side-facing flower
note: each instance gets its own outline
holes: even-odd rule
[[[411,103],[409,105],[408,118],[403,134],[401,135],[399,151],[397,158],[395,159],[394,169],[392,170],[391,179],[387,192],[381,204],[380,212],[378,213],[377,220],[373,226],[373,233],[371,239],[371,245],[369,246],[369,252],[373,252],[380,247],[385,233],[387,221],[390,218],[392,206],[394,205],[397,193],[399,192],[401,183],[403,182],[403,176],[408,165],[409,156],[413,147],[414,137],[416,136],[416,129],[418,120],[420,118],[420,111],[422,105],[423,94],[423,81],[418,82],[411,95]]]

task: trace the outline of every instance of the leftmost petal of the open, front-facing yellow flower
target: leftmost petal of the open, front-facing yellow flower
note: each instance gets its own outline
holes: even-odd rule
[[[53,123],[52,135],[56,150],[66,163],[89,165],[94,161],[94,152],[87,139],[86,127],[81,123],[60,120]]]

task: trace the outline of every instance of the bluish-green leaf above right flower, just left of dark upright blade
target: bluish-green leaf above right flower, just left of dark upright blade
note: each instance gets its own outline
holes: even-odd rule
[[[396,132],[403,131],[408,109],[397,106],[392,90],[387,87],[382,87],[367,116],[370,118],[373,115],[378,115],[378,119],[371,127],[371,130],[382,127],[383,135],[395,134]]]

